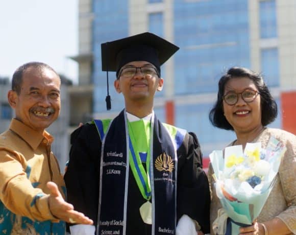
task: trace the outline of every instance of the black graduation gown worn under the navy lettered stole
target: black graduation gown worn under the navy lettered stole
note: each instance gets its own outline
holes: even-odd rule
[[[97,223],[101,139],[94,124],[85,124],[71,134],[70,159],[64,179],[67,201],[75,210]],[[177,221],[184,214],[196,220],[204,233],[210,231],[210,191],[202,170],[198,138],[186,133],[178,154]],[[127,234],[151,234],[151,225],[143,223],[139,208],[143,199],[136,180],[129,172]]]

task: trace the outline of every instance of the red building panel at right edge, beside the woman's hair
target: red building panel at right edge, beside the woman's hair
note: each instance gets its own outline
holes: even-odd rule
[[[283,129],[296,134],[296,91],[283,92],[281,102]]]

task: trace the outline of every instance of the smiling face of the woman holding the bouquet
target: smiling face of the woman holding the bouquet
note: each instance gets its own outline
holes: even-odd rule
[[[229,100],[232,99],[232,101],[238,96],[238,100],[234,105],[227,104],[225,99],[223,99],[224,115],[236,133],[250,132],[256,128],[262,127],[261,97],[257,95],[254,100],[254,97],[250,98],[250,96],[252,97],[252,90],[258,92],[254,82],[248,77],[232,78],[225,84],[224,96],[230,94]],[[245,92],[241,94],[242,91]],[[242,99],[242,96],[244,99]],[[253,101],[246,102],[245,100]]]

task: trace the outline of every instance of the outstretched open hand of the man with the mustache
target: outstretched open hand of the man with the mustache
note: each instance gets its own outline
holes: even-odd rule
[[[48,205],[52,214],[59,220],[76,224],[93,224],[93,221],[86,217],[83,213],[74,210],[73,205],[67,203],[58,190],[57,184],[54,182],[47,182],[46,186],[50,190],[50,197],[48,198]]]

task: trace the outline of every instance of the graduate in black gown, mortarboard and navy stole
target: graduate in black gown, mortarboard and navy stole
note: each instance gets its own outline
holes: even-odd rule
[[[102,69],[116,72],[125,109],[71,134],[67,200],[94,221],[73,221],[71,234],[209,232],[210,192],[198,138],[161,123],[153,111],[163,87],[160,65],[178,49],[151,33],[102,44]],[[110,97],[106,101],[110,108]]]

